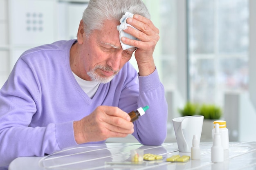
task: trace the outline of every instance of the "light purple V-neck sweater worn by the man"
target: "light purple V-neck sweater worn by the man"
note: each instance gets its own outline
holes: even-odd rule
[[[157,70],[140,77],[127,62],[111,82],[100,84],[90,99],[70,68],[74,41],[30,49],[16,62],[0,90],[0,166],[16,157],[44,156],[77,146],[73,121],[101,105],[117,106],[127,113],[148,105],[146,114],[134,122],[132,135],[145,145],[164,142],[167,104]]]

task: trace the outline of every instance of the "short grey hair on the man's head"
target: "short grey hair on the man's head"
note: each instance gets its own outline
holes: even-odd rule
[[[88,38],[95,29],[100,30],[106,20],[119,21],[126,11],[150,19],[142,0],[90,0],[83,12],[86,37]]]

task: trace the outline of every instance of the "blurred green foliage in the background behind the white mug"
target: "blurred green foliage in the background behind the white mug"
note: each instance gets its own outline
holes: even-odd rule
[[[178,109],[182,116],[203,115],[204,119],[220,119],[222,110],[220,107],[213,104],[193,104],[187,102],[182,109]]]

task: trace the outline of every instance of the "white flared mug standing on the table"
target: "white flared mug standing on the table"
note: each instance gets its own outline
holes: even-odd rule
[[[173,119],[173,128],[180,152],[191,152],[193,136],[200,142],[204,116],[183,116]]]

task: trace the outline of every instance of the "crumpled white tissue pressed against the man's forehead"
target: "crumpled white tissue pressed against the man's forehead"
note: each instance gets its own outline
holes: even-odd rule
[[[124,44],[122,41],[121,41],[121,37],[127,37],[131,40],[136,40],[137,38],[135,38],[134,36],[128,34],[128,33],[125,33],[123,30],[127,28],[127,26],[131,26],[130,24],[127,24],[126,23],[126,20],[127,18],[132,18],[133,17],[133,14],[130,13],[130,12],[126,12],[123,17],[120,19],[120,25],[117,26],[117,30],[119,31],[119,39],[120,39],[120,43],[121,43],[121,46],[123,48],[123,50],[127,50],[127,49],[130,49],[134,46],[130,46],[130,45],[127,45],[127,44]],[[136,29],[135,27],[131,26],[132,28]]]

